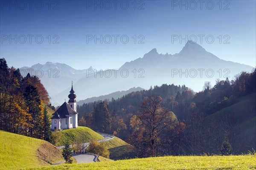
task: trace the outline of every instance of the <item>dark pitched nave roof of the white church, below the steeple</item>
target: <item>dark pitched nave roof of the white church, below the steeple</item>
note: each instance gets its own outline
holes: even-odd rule
[[[65,115],[75,115],[77,114],[76,111],[74,111],[67,102],[64,102],[61,107],[58,108],[57,111],[55,111],[52,115],[51,119],[60,119],[60,118],[68,118],[68,116]],[[59,117],[59,118],[58,118]]]

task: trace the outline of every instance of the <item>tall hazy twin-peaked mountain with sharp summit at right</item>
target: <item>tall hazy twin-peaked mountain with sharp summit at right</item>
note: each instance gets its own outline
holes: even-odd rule
[[[164,83],[183,85],[194,91],[202,90],[205,81],[215,84],[215,79],[230,79],[241,71],[252,71],[253,67],[219,59],[201,45],[188,41],[178,54],[158,54],[154,48],[143,58],[126,62],[119,71],[105,71],[95,76],[82,78],[74,89],[78,99],[109,94],[131,87],[148,89],[151,85]],[[128,73],[128,75],[127,75]],[[70,87],[53,97],[53,101],[67,98]]]

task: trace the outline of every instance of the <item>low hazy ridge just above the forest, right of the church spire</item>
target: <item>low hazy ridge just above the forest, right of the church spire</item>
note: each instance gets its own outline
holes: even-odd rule
[[[102,95],[102,96],[99,96],[99,97],[90,97],[88,99],[78,101],[77,104],[78,105],[83,105],[84,103],[94,102],[94,101],[98,101],[98,100],[105,100],[105,99],[111,100],[112,97],[114,99],[118,99],[119,97],[122,97],[122,96],[124,96],[126,94],[129,94],[131,92],[142,91],[142,90],[145,90],[145,89],[140,88],[140,87],[137,87],[137,88],[134,87],[134,88],[130,88],[128,91],[116,91],[114,93],[107,94],[107,95]]]

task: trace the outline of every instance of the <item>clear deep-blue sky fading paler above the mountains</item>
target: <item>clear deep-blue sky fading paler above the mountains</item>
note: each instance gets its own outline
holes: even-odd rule
[[[29,2],[0,0],[0,57],[15,68],[119,68],[152,48],[178,53],[189,37],[221,59],[256,65],[255,0]]]

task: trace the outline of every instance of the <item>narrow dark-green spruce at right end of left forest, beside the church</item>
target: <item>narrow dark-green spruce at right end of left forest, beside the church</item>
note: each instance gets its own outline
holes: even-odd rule
[[[44,140],[52,142],[52,130],[51,122],[49,121],[49,116],[47,115],[47,108],[44,107]]]

